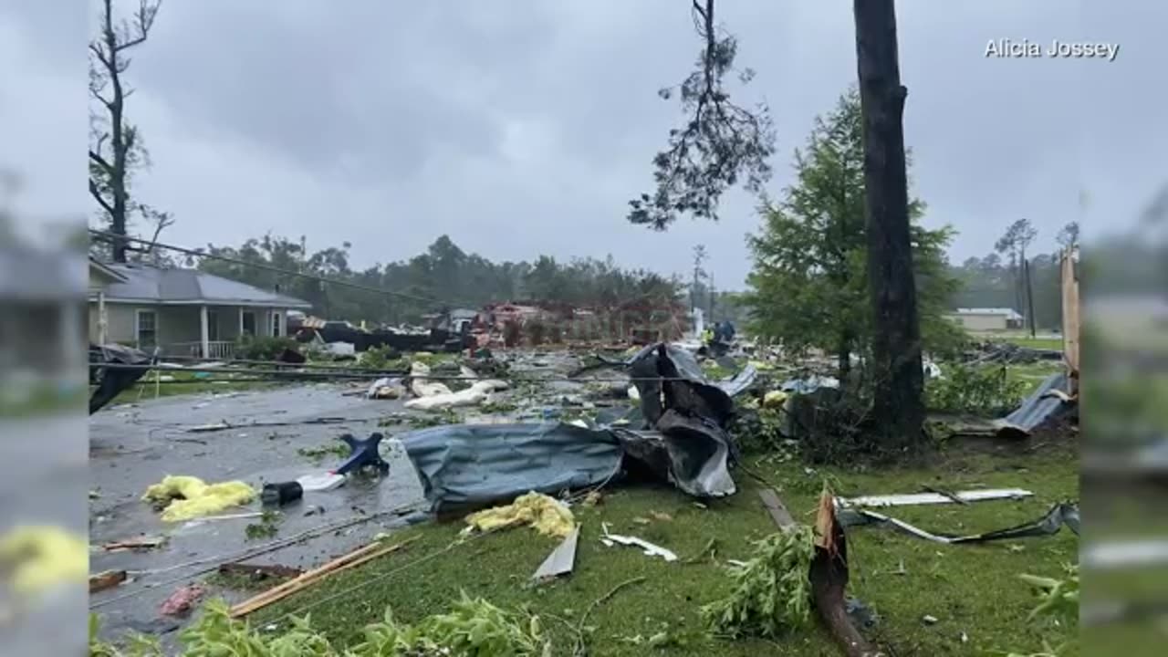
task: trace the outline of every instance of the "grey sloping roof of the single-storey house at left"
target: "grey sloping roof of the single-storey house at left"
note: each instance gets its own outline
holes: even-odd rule
[[[140,264],[105,264],[124,282],[105,288],[105,300],[154,304],[224,304],[312,307],[306,300],[269,292],[246,283],[196,269],[162,269]]]

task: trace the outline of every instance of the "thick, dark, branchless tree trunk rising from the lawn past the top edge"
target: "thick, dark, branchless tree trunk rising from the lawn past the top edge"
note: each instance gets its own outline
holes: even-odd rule
[[[892,0],[854,0],[864,123],[864,214],[875,332],[871,420],[892,445],[923,436],[924,375],[909,229],[904,99]]]

